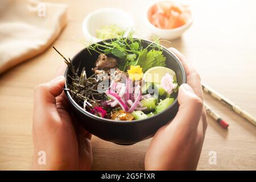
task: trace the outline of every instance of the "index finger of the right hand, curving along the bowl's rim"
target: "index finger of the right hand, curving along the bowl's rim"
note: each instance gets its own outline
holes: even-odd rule
[[[177,49],[171,47],[169,50],[174,53],[180,60],[181,64],[183,65],[186,75],[187,75],[187,84],[190,85],[197,96],[203,100],[203,90],[201,86],[201,78],[199,74],[196,72],[193,65],[182,55]]]

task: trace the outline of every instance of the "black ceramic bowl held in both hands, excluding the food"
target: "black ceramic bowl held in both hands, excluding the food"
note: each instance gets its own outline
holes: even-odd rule
[[[110,40],[105,41],[109,42]],[[103,44],[102,42],[99,43]],[[142,40],[143,47],[147,47],[150,43],[151,42],[148,40]],[[92,53],[92,55],[90,53]],[[175,71],[178,84],[185,83],[185,71],[177,57],[164,47],[163,55],[167,57],[166,67]],[[91,69],[94,68],[97,57],[97,52],[89,52],[88,49],[84,48],[73,57],[72,63],[76,68],[80,65],[80,72],[81,69],[85,67],[87,76],[90,76],[93,74]],[[67,83],[71,83],[71,79],[67,76],[69,73],[71,72],[67,68],[64,75],[67,79],[65,88],[67,88]],[[97,117],[82,109],[82,107],[72,99],[67,89],[65,89],[65,94],[67,95],[75,117],[87,131],[101,139],[117,144],[134,144],[152,137],[160,127],[175,117],[179,107],[176,98],[171,106],[153,117],[137,121],[113,121],[111,119]]]

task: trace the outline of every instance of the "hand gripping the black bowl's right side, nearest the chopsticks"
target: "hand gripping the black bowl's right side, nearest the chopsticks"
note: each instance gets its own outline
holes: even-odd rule
[[[147,170],[195,170],[207,129],[203,107],[203,90],[199,74],[175,48],[187,75],[187,84],[179,88],[179,111],[167,125],[155,134],[146,152]]]

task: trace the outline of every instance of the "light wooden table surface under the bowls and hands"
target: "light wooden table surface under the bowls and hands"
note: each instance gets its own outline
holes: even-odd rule
[[[82,49],[81,23],[93,10],[117,7],[130,13],[142,32],[142,10],[151,1],[53,1],[69,4],[69,21],[56,46],[72,57]],[[256,117],[256,1],[192,1],[194,23],[181,39],[164,44],[179,49],[202,80]],[[51,80],[63,60],[52,48],[0,76],[0,169],[29,169],[32,158],[34,87]],[[229,122],[222,129],[208,117],[198,170],[255,170],[256,127],[205,94],[205,101]],[[92,138],[93,169],[144,169],[151,139],[119,146]],[[217,164],[209,164],[216,151]]]

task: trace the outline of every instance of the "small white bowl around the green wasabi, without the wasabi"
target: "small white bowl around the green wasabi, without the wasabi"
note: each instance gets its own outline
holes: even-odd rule
[[[85,17],[82,22],[82,31],[88,41],[100,42],[101,39],[96,38],[96,30],[110,24],[116,24],[125,29],[133,27],[134,21],[125,11],[114,8],[99,9]]]

